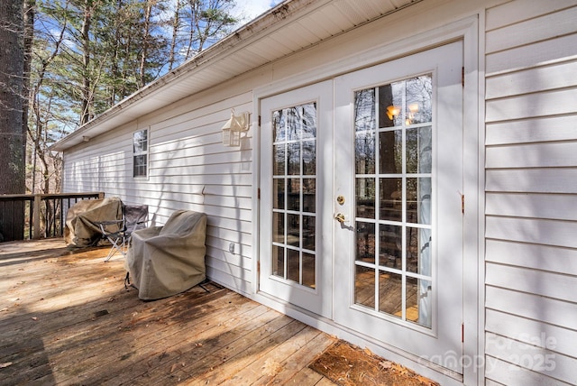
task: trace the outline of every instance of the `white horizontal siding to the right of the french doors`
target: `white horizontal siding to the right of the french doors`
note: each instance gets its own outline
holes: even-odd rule
[[[487,384],[575,384],[577,4],[486,15]]]

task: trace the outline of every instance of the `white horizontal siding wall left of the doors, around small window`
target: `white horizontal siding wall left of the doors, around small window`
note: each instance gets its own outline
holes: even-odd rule
[[[224,94],[230,96],[230,91]],[[198,98],[188,98],[66,152],[63,191],[104,191],[105,197],[127,204],[147,204],[150,225],[163,225],[176,209],[206,213],[207,275],[251,293],[251,142],[228,148],[221,136],[231,108],[252,111],[252,93],[242,87],[237,91],[227,98],[222,90],[214,92],[202,105]],[[145,128],[149,178],[134,179],[133,132]],[[231,244],[234,253],[229,252]]]

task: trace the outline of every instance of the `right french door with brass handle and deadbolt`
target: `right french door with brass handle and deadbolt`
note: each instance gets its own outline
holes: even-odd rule
[[[334,84],[334,320],[454,372],[463,372],[462,68],[454,42]]]

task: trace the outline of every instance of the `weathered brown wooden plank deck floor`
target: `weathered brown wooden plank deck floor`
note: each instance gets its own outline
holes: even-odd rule
[[[213,284],[144,302],[106,253],[0,244],[0,384],[334,384],[333,337]]]

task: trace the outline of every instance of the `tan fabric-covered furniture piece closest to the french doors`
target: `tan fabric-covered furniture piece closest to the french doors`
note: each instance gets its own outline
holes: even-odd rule
[[[124,266],[143,300],[167,298],[206,279],[206,215],[174,212],[164,226],[133,233]]]

